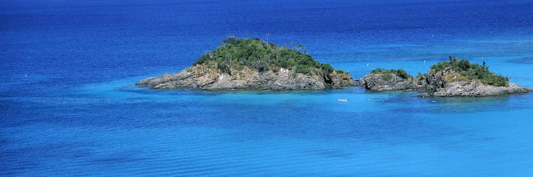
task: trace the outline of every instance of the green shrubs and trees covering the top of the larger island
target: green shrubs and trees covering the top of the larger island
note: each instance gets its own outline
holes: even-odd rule
[[[268,37],[268,33],[266,35]],[[274,71],[280,68],[292,69],[302,74],[330,74],[335,71],[330,64],[321,64],[311,55],[301,53],[303,45],[289,45],[281,47],[274,43],[251,39],[223,39],[224,44],[216,50],[203,54],[196,64],[205,64],[206,67],[216,67],[222,72],[230,73],[230,68],[242,69],[244,66],[257,69],[259,72]],[[337,70],[336,72],[344,73]],[[231,73],[230,73],[231,74]]]

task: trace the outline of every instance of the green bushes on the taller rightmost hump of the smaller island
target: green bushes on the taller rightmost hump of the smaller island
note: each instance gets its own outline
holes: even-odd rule
[[[490,72],[488,67],[485,66],[485,61],[483,61],[483,65],[479,65],[471,64],[465,59],[459,60],[457,57],[449,56],[449,58],[449,62],[438,62],[431,66],[431,69],[443,71],[449,67],[468,79],[479,79],[483,84],[491,86],[509,86],[509,79],[506,76]]]

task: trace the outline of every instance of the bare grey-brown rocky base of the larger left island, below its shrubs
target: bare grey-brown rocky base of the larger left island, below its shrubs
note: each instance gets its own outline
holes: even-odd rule
[[[317,90],[339,89],[354,86],[348,73],[332,73],[308,76],[281,68],[278,72],[258,72],[256,69],[218,69],[197,64],[176,74],[163,74],[139,81],[137,86],[153,89],[200,89],[200,90]]]

